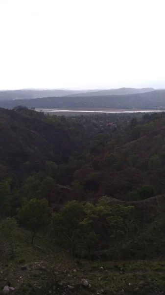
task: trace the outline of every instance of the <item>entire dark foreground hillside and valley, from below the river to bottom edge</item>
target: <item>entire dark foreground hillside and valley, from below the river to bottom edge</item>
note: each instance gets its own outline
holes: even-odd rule
[[[0,109],[0,139],[2,289],[165,292],[164,113]]]

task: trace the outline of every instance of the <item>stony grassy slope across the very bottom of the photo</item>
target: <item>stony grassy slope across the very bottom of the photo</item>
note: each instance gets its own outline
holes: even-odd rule
[[[83,278],[91,288],[82,288]],[[76,263],[42,236],[31,245],[30,234],[19,229],[14,254],[0,257],[0,287],[5,285],[17,295],[158,294],[165,292],[165,261]]]

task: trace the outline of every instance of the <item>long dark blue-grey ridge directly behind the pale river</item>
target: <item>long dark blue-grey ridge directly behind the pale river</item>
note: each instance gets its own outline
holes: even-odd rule
[[[3,100],[2,108],[26,106],[37,109],[165,109],[165,89],[125,95],[62,96],[35,99]]]

